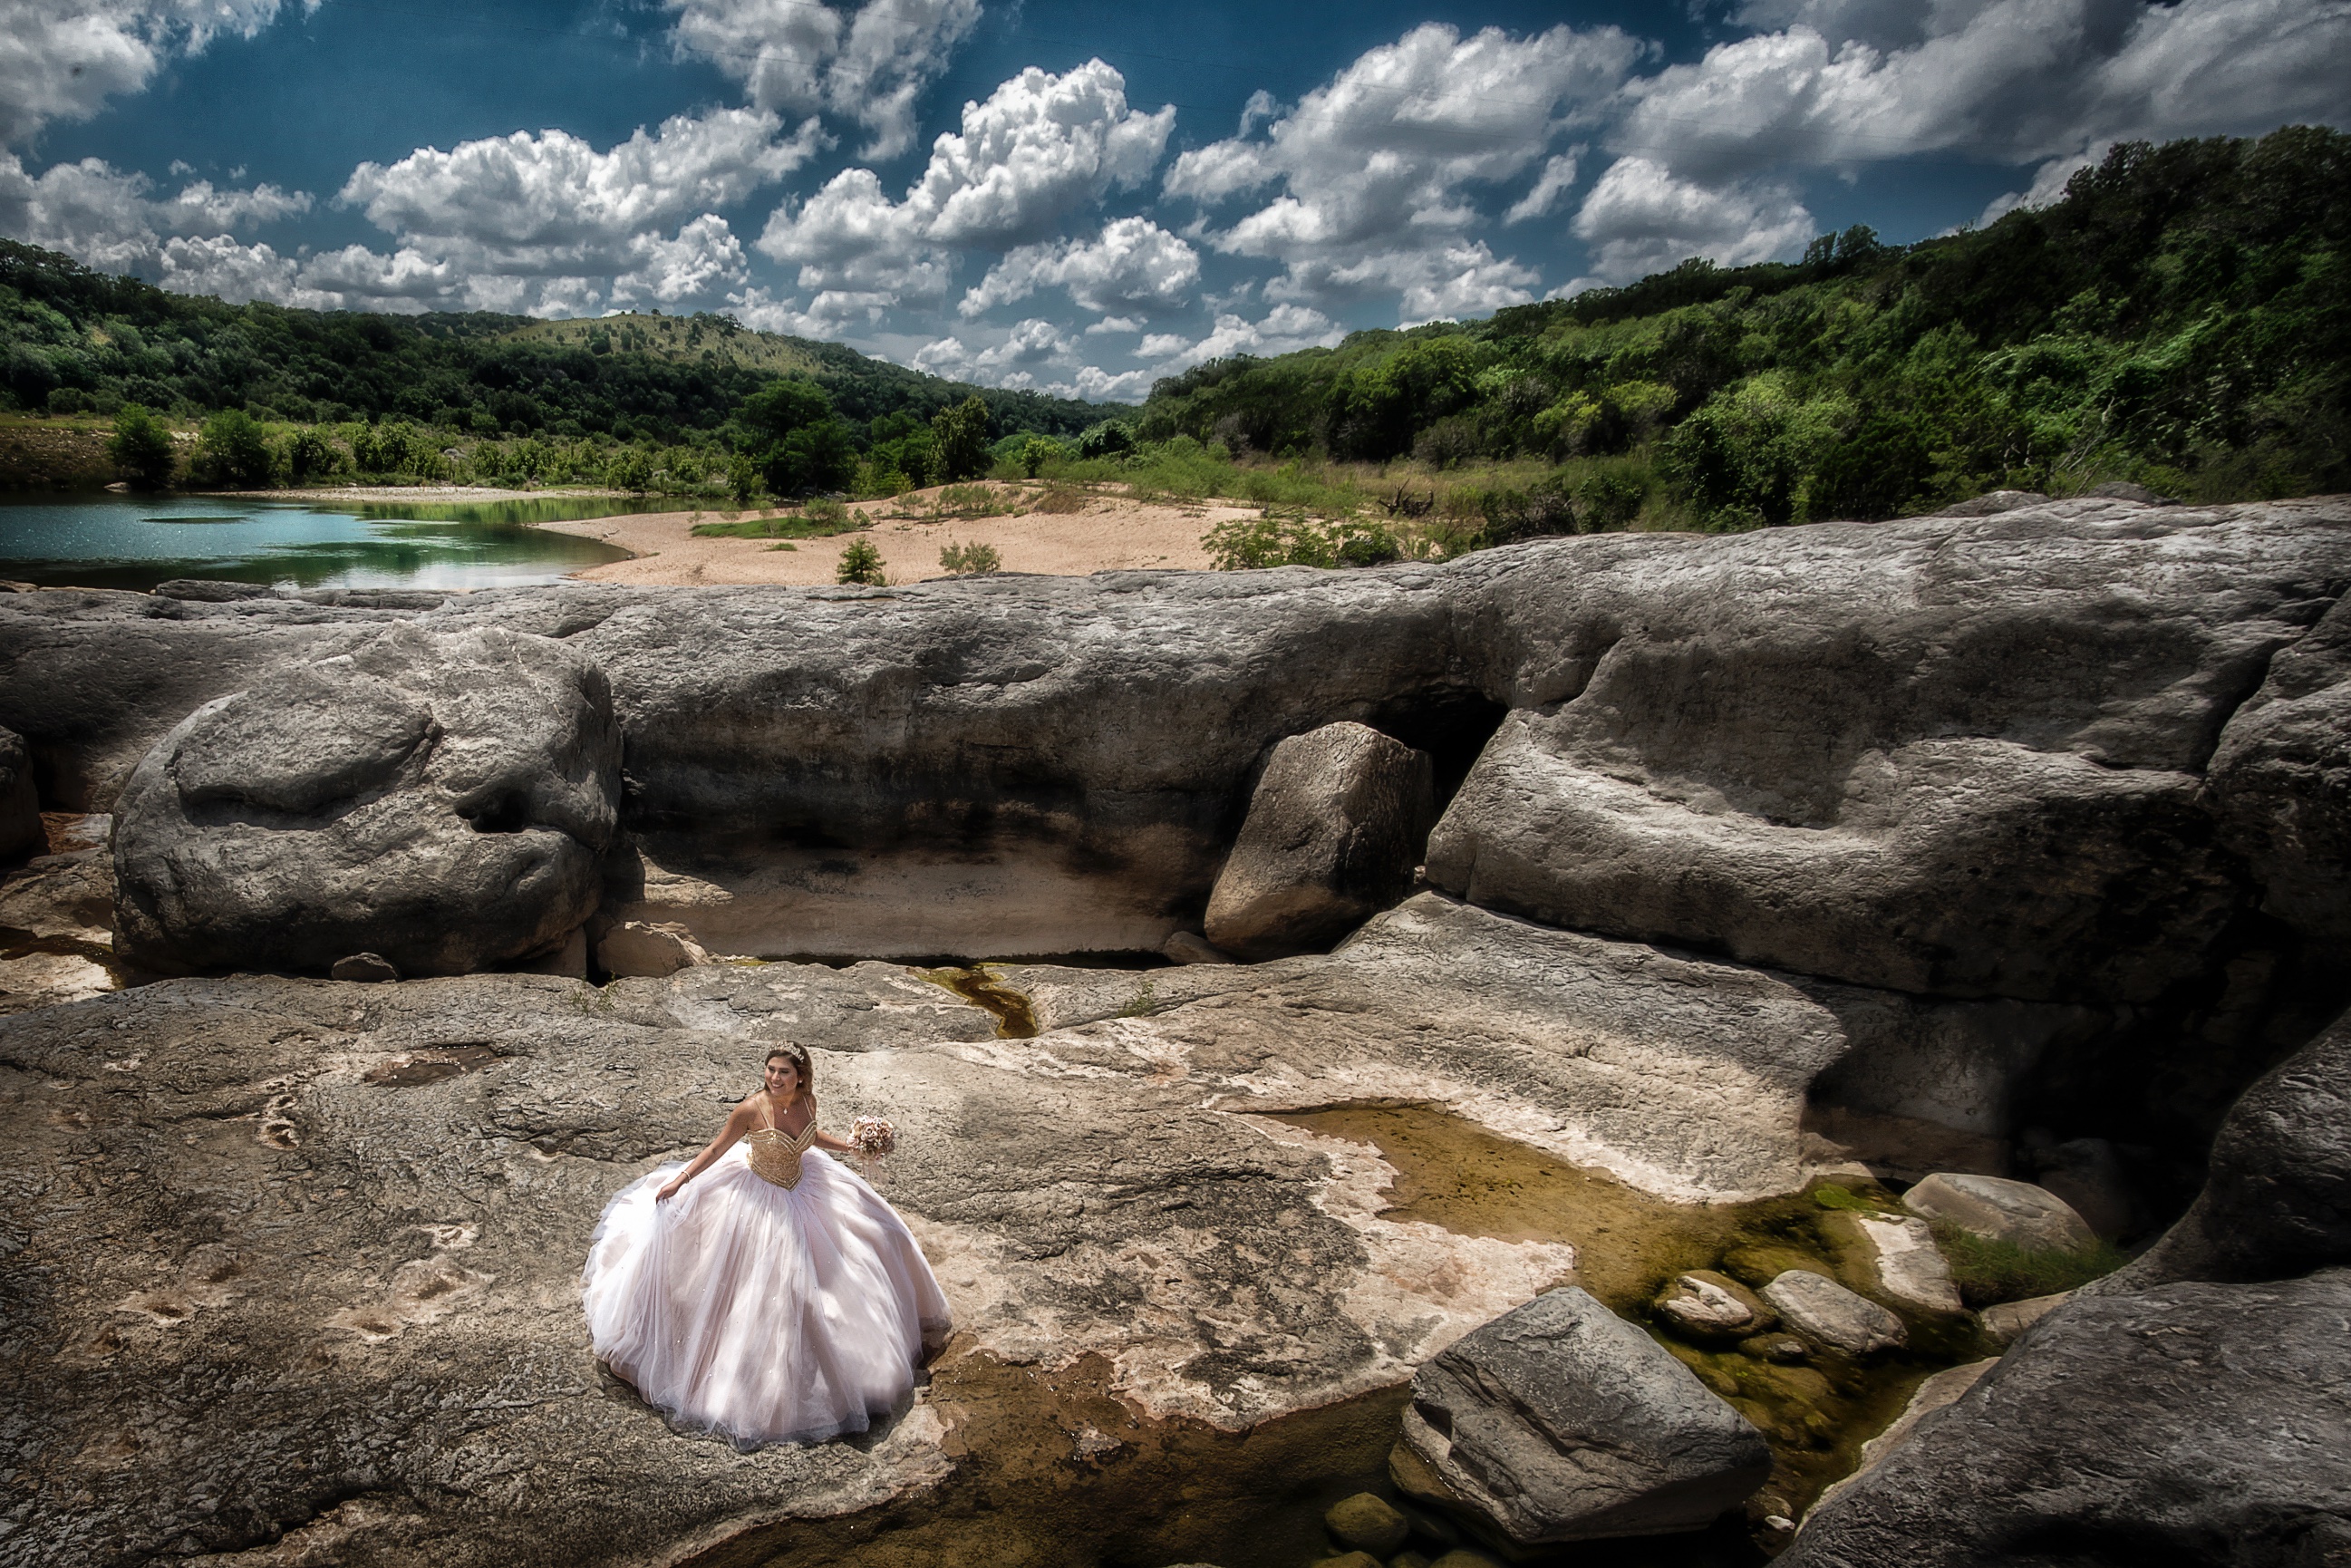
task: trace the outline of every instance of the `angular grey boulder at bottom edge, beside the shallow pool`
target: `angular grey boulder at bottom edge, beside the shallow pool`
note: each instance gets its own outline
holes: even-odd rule
[[[1404,1443],[1514,1547],[1697,1530],[1770,1474],[1747,1418],[1575,1286],[1425,1363]]]

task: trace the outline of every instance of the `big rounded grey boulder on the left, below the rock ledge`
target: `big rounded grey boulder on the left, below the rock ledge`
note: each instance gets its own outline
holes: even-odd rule
[[[395,628],[183,719],[115,813],[118,945],[160,971],[503,964],[595,907],[604,675],[496,628]]]

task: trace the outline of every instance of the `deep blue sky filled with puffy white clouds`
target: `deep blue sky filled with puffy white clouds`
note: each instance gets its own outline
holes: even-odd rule
[[[310,308],[724,310],[1138,400],[2118,139],[2346,122],[2351,0],[0,0],[0,233]]]

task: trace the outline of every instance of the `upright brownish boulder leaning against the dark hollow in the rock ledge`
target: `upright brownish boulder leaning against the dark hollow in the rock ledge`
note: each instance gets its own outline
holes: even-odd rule
[[[1291,736],[1208,893],[1208,940],[1241,959],[1331,947],[1413,891],[1434,818],[1427,752],[1364,724]]]

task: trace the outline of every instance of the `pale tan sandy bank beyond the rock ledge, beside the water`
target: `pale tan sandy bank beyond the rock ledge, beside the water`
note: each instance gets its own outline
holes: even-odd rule
[[[1004,496],[1030,496],[1030,487],[992,484]],[[583,517],[578,522],[543,522],[536,527],[628,550],[635,559],[574,571],[590,583],[705,585],[705,583],[830,583],[849,541],[865,538],[882,550],[882,569],[893,583],[919,583],[947,576],[938,552],[950,545],[994,545],[1004,571],[1049,576],[1086,576],[1117,569],[1206,571],[1208,552],[1201,534],[1227,517],[1253,517],[1248,505],[1159,505],[1126,496],[1096,494],[1077,512],[1018,512],[1011,517],[969,517],[952,522],[907,520],[900,512],[926,512],[936,489],[912,491],[893,501],[858,501],[870,527],[832,538],[696,538],[694,522],[722,522],[729,512],[635,512],[625,517]],[[734,512],[736,517],[785,515]],[[778,550],[785,543],[790,548]]]

